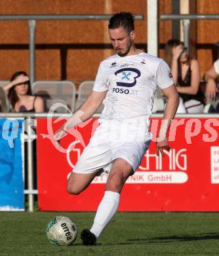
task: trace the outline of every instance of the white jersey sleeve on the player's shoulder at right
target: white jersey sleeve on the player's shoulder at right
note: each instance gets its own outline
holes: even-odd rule
[[[174,84],[170,68],[163,60],[159,62],[156,72],[157,86],[161,89],[165,89]]]

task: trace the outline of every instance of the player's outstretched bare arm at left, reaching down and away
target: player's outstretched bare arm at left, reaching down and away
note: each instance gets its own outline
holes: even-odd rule
[[[54,133],[54,139],[60,140],[66,134],[68,129],[79,125],[86,121],[96,112],[102,101],[106,97],[107,91],[97,92],[92,91],[87,100],[79,107],[79,109]]]

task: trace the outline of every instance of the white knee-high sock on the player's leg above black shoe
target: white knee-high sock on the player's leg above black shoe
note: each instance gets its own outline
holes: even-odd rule
[[[120,194],[117,192],[106,191],[98,209],[96,211],[96,216],[94,218],[94,224],[90,228],[96,238],[100,236],[100,233],[106,225],[111,221],[115,215],[117,208],[119,206]]]

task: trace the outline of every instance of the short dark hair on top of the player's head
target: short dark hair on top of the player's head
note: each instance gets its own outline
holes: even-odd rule
[[[124,28],[127,32],[134,30],[134,16],[130,12],[118,12],[109,19],[108,28]]]

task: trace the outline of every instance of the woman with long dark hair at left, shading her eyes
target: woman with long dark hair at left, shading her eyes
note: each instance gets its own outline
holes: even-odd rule
[[[44,112],[43,99],[32,95],[30,79],[26,72],[14,73],[4,89],[9,91],[8,98],[12,112]]]

